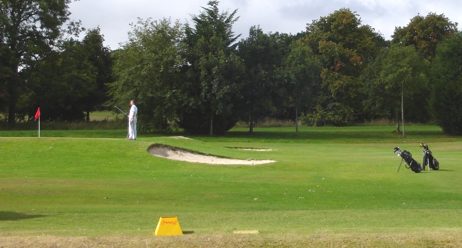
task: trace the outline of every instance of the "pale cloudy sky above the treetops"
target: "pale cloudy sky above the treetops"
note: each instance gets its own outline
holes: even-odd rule
[[[198,15],[208,0],[79,0],[72,2],[70,19],[81,20],[85,28],[100,27],[105,46],[114,50],[128,40],[130,24],[137,17],[144,20],[171,18],[172,22],[191,23],[191,15]],[[296,34],[305,31],[307,24],[341,8],[357,12],[362,25],[369,25],[391,39],[395,27],[407,26],[410,19],[429,12],[444,14],[452,23],[462,25],[460,0],[222,0],[220,12],[237,9],[239,19],[234,33],[248,36],[251,26],[260,25],[264,33]],[[84,34],[81,35],[82,38]]]

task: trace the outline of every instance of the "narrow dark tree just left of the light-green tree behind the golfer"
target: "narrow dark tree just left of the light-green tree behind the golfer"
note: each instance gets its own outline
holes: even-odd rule
[[[82,40],[86,60],[95,68],[96,87],[86,99],[83,99],[86,121],[90,120],[90,112],[95,110],[97,105],[104,104],[107,100],[107,84],[112,82],[113,60],[110,56],[110,49],[103,45],[104,37],[100,28],[87,31]]]

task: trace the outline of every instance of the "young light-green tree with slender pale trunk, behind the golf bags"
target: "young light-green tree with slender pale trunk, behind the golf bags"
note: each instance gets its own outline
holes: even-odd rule
[[[428,72],[428,61],[411,46],[394,44],[383,50],[362,75],[364,91],[368,93],[364,100],[366,111],[400,122],[404,107],[405,119],[429,121]]]

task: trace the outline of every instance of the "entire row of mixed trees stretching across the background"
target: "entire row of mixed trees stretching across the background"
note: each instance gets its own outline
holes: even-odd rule
[[[146,132],[176,123],[222,134],[237,121],[253,132],[266,118],[293,120],[298,132],[299,122],[386,118],[403,137],[405,121],[462,134],[462,34],[443,14],[415,16],[392,40],[343,8],[298,34],[253,26],[239,39],[237,10],[210,1],[191,23],[138,19],[111,51],[99,28],[62,28],[69,2],[1,3],[0,111],[9,123],[38,107],[47,121],[88,121],[99,106],[135,99]],[[82,40],[70,38],[79,32]]]

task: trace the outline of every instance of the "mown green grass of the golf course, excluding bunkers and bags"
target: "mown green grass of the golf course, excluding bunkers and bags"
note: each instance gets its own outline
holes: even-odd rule
[[[406,139],[393,130],[233,129],[137,141],[125,130],[0,131],[0,247],[462,246],[462,137],[435,126],[408,126]],[[440,170],[397,173],[393,148],[421,162],[421,142]],[[276,162],[174,161],[147,152],[155,143]],[[161,216],[177,216],[184,235],[154,236]]]

